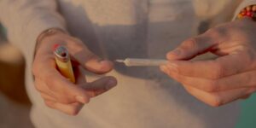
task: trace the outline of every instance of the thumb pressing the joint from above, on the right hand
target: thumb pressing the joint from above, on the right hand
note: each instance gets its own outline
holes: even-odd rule
[[[216,44],[216,41],[213,38],[202,34],[183,41],[176,49],[168,52],[166,58],[168,60],[190,60],[196,55],[206,53],[214,44]]]

